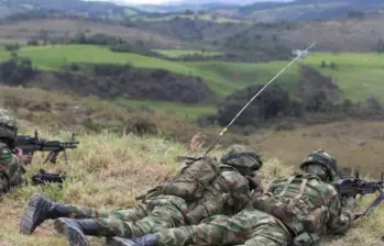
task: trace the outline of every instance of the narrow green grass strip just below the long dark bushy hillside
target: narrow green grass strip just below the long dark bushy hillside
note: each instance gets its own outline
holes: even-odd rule
[[[155,110],[156,112],[175,114],[185,120],[195,121],[198,116],[204,114],[215,114],[215,105],[189,105],[184,103],[175,102],[160,102],[160,101],[144,101],[144,100],[129,100],[118,98],[116,99],[117,104],[122,107],[132,107],[132,108],[144,108]]]

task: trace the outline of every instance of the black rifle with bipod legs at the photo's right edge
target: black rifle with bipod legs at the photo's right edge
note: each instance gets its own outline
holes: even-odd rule
[[[382,172],[381,181],[366,181],[360,178],[359,171],[354,176],[347,176],[340,178],[336,183],[333,183],[341,198],[353,197],[356,198],[358,194],[364,197],[365,194],[373,194],[378,191],[376,199],[369,205],[362,213],[355,214],[356,219],[360,216],[370,215],[378,204],[384,200],[384,172]]]

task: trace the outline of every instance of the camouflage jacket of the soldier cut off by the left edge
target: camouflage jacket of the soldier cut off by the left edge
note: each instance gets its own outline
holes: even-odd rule
[[[11,187],[25,182],[24,166],[19,163],[8,145],[0,143],[0,193],[6,193]]]

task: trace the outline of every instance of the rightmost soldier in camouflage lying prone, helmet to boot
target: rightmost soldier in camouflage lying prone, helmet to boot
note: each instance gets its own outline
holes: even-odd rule
[[[354,199],[340,201],[329,183],[337,160],[322,149],[312,152],[300,165],[301,174],[278,178],[268,193],[255,193],[254,209],[234,216],[215,215],[199,225],[163,230],[140,238],[113,237],[110,246],[184,245],[312,245],[326,232],[342,234],[354,219]]]

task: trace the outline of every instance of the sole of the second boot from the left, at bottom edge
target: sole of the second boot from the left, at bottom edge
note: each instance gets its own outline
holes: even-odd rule
[[[57,233],[65,235],[70,246],[89,246],[87,236],[76,221],[61,217],[55,220],[54,227]]]

